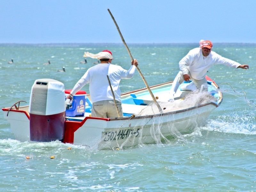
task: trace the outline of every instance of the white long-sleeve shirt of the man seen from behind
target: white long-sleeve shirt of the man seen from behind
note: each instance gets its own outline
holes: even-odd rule
[[[113,94],[108,83],[109,78],[115,99],[121,102],[120,80],[132,78],[135,70],[134,65],[127,71],[118,65],[99,63],[86,71],[70,93],[74,95],[85,84],[90,83],[89,91],[93,103],[102,100],[113,100]]]

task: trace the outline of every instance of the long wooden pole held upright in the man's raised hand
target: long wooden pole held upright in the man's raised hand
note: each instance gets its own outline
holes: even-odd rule
[[[132,61],[133,61],[134,59],[133,59],[133,57],[132,57],[132,54],[131,54],[131,52],[130,52],[130,49],[129,49],[129,47],[127,46],[127,44],[125,43],[125,41],[124,41],[124,37],[123,37],[123,35],[122,35],[122,33],[121,33],[121,31],[120,31],[120,29],[119,29],[117,23],[116,23],[115,18],[113,17],[113,15],[112,15],[112,13],[110,12],[109,9],[108,9],[108,12],[109,12],[109,14],[111,15],[111,17],[112,17],[112,19],[113,19],[113,21],[114,21],[114,23],[115,23],[115,25],[116,25],[116,28],[117,28],[117,30],[118,30],[118,32],[119,32],[119,35],[120,35],[120,37],[121,37],[121,39],[122,39],[122,41],[123,41],[123,43],[124,43],[124,45],[125,45],[125,47],[126,47],[128,53],[129,53],[129,55],[130,55],[130,57],[131,57],[131,59],[132,59]],[[159,105],[158,102],[156,101],[155,96],[153,95],[152,91],[150,90],[150,88],[149,88],[149,86],[148,86],[148,83],[147,83],[145,77],[144,77],[143,74],[141,73],[140,68],[139,68],[138,66],[137,66],[136,68],[137,68],[137,70],[139,71],[140,76],[141,76],[141,78],[143,79],[145,85],[147,86],[148,92],[150,93],[150,95],[151,95],[153,101],[155,102],[157,108],[159,109],[159,112],[160,112],[160,113],[163,113],[163,111],[162,111],[160,105]]]

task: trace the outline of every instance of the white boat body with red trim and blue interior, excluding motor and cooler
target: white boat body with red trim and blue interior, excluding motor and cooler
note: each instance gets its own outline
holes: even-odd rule
[[[196,127],[204,126],[212,110],[222,102],[222,93],[218,85],[213,81],[208,84],[209,98],[214,100],[203,96],[203,101],[202,97],[199,97],[199,102],[194,104],[190,99],[188,102],[182,99],[189,91],[178,91],[176,95],[179,95],[179,98],[173,103],[167,102],[172,82],[152,86],[151,90],[154,96],[159,98],[163,113],[160,113],[151,101],[146,88],[124,93],[124,117],[97,118],[91,117],[90,113],[66,117],[64,138],[61,141],[91,149],[116,149],[139,144],[165,143],[174,136],[191,133]],[[131,103],[133,101],[137,103]],[[35,142],[30,140],[29,106],[13,106],[2,110],[4,118],[11,124],[15,139]]]

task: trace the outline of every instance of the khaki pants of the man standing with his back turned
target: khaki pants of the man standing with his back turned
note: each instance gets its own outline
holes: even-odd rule
[[[116,100],[120,117],[123,117],[122,103]],[[103,100],[92,103],[92,117],[118,117],[114,100]]]

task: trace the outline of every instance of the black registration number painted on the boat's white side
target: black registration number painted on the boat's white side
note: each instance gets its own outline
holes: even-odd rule
[[[140,129],[124,129],[119,131],[105,132],[104,141],[114,141],[119,139],[126,139],[129,137],[138,137]]]

